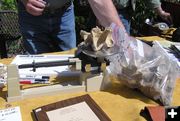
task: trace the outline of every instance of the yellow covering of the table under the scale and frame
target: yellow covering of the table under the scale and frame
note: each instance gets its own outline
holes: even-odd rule
[[[145,39],[157,40],[161,38],[150,37]],[[64,53],[72,53],[73,51],[74,50]],[[12,59],[2,59],[0,60],[0,63],[8,64],[11,60]],[[112,121],[144,121],[145,119],[140,116],[140,111],[144,109],[145,106],[159,105],[155,101],[144,96],[142,93],[127,88],[115,78],[112,77],[111,81],[112,86],[104,91],[55,94],[51,96],[24,99],[21,101],[10,103],[10,105],[12,105],[12,107],[20,106],[23,121],[33,121],[32,109],[83,94],[89,94],[104,110],[104,112],[112,119]],[[0,109],[5,108],[5,106],[8,104],[5,100],[5,94],[5,90],[3,90],[3,92],[0,92]],[[180,79],[176,81],[172,105],[180,106]]]

